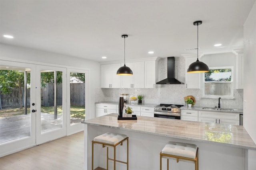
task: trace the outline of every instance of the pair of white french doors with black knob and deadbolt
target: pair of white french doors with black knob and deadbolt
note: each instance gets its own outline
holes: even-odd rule
[[[0,76],[0,157],[66,136],[66,68],[1,60]]]

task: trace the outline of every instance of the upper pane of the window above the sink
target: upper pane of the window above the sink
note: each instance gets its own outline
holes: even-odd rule
[[[230,82],[231,68],[211,69],[210,72],[204,74],[206,82]]]

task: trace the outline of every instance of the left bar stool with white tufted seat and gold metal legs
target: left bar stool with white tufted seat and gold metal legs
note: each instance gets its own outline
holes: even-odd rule
[[[101,144],[102,148],[107,147],[107,170],[108,170],[108,160],[114,161],[114,170],[116,170],[116,162],[126,164],[128,170],[128,137],[126,135],[117,134],[117,133],[104,133],[100,136],[97,136],[92,141],[92,170],[93,170],[93,147],[95,143]],[[127,140],[127,161],[123,162],[116,160],[116,146],[119,144],[122,146],[123,142]],[[114,159],[108,157],[108,147],[114,147]]]

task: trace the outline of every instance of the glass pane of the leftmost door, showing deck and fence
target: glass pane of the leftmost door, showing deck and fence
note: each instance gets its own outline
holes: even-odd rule
[[[1,66],[0,143],[31,137],[30,71]]]

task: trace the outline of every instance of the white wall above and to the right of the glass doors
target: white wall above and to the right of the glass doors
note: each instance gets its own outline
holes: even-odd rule
[[[66,68],[89,70],[90,118],[95,117],[95,89],[100,87],[100,64],[77,57],[50,53],[36,49],[0,44],[0,59],[27,63],[56,64]]]

